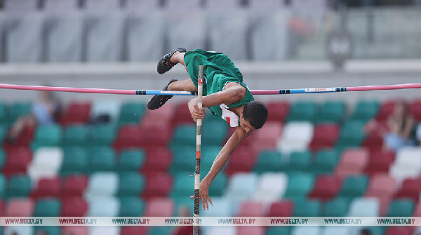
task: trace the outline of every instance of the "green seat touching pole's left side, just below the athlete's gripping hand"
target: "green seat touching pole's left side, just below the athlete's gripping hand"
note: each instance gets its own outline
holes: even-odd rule
[[[196,147],[196,125],[182,124],[174,130],[171,147],[189,146]]]

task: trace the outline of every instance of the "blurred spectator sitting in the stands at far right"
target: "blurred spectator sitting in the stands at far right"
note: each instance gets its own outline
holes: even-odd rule
[[[414,125],[414,120],[408,112],[408,105],[406,102],[399,101],[396,102],[394,110],[387,118],[385,125],[372,120],[366,128],[368,131],[380,131],[385,148],[397,152],[401,147],[415,145],[413,138],[411,138]]]

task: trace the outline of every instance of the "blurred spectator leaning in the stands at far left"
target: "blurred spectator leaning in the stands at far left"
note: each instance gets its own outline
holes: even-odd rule
[[[48,85],[44,85],[48,86]],[[32,112],[27,116],[20,116],[13,123],[8,133],[8,140],[15,142],[20,133],[27,127],[33,128],[37,124],[45,125],[55,123],[60,111],[60,105],[50,91],[42,90],[39,93],[39,99],[32,104]]]

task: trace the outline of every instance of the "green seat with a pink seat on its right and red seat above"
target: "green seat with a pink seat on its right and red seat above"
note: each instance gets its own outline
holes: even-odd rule
[[[339,159],[340,151],[338,149],[320,150],[316,153],[311,170],[316,175],[333,173]]]

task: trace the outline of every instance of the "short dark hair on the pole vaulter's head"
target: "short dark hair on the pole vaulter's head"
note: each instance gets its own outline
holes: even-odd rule
[[[256,129],[262,128],[267,119],[267,107],[262,102],[250,101],[244,105],[243,118]]]

